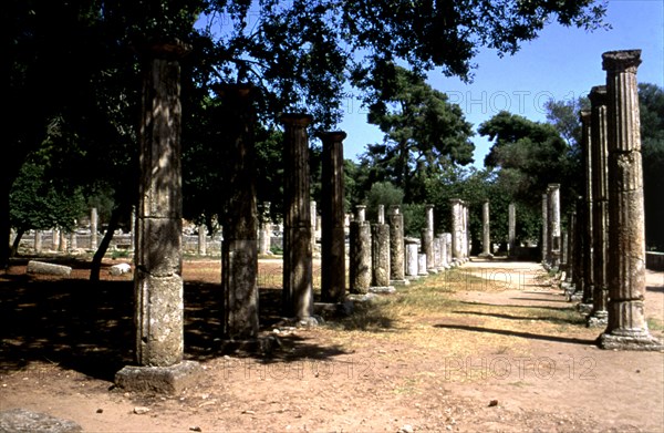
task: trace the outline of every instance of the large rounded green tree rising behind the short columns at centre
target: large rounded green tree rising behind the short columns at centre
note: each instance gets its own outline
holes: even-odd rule
[[[365,158],[384,171],[383,178],[394,182],[407,202],[425,194],[424,179],[440,173],[448,164],[473,162],[471,125],[461,109],[447,102],[447,95],[432,89],[421,74],[395,66],[394,82],[365,81],[374,89],[369,122],[385,137],[369,145]]]

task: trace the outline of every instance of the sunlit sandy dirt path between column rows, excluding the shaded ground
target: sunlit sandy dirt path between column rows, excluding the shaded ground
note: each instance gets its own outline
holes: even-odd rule
[[[601,330],[583,326],[539,265],[473,261],[430,278],[456,289],[400,289],[362,326],[270,327],[282,344],[270,357],[190,348],[206,379],[180,395],[124,393],[84,374],[90,365],[8,354],[0,410],[48,412],[89,432],[664,432],[664,353],[596,349]],[[664,274],[647,281],[661,338]],[[445,307],[414,307],[418,293]],[[3,338],[1,349],[20,351],[19,340]]]

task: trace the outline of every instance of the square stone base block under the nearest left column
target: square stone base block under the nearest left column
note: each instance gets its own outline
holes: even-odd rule
[[[193,385],[203,374],[196,361],[169,367],[126,365],[115,373],[115,384],[126,391],[177,394]]]

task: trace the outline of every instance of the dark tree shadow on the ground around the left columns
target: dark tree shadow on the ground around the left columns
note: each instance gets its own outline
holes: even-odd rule
[[[68,265],[80,270],[89,266]],[[102,270],[104,272],[107,270]],[[220,338],[220,286],[187,281],[184,291],[185,358],[207,361],[225,354],[228,347]],[[270,330],[281,320],[281,290],[260,289],[259,298],[261,329]],[[0,373],[50,362],[113,381],[120,369],[134,363],[131,279],[91,282],[73,277],[33,278],[24,272],[0,275]],[[268,355],[260,352],[243,355],[269,362],[299,358],[323,360],[343,353],[336,347],[320,347],[295,336],[283,336],[280,343],[284,350],[277,348]]]

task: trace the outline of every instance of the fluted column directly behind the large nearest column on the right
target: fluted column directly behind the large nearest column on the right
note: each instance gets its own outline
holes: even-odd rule
[[[591,103],[593,295],[588,326],[608,324],[606,265],[609,252],[609,143],[606,141],[606,86],[598,85],[589,94]]]

